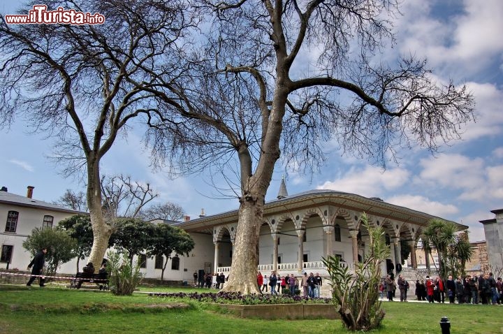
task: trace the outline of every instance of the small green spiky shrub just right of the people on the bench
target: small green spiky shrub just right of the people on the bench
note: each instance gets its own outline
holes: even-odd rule
[[[110,291],[117,296],[131,296],[143,279],[140,263],[131,264],[127,254],[108,252],[108,274]]]

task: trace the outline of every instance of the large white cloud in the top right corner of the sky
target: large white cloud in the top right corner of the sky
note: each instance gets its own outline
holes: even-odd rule
[[[456,4],[458,5],[458,4]],[[503,50],[503,1],[462,1],[462,12],[439,20],[432,17],[428,1],[407,1],[397,28],[400,50],[428,57],[434,67],[447,66],[466,78],[488,65]],[[444,17],[445,18],[445,17]],[[403,41],[400,41],[400,37]]]

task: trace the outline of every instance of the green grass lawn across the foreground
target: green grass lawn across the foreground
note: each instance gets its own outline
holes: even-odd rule
[[[349,333],[339,320],[240,319],[195,302],[183,310],[145,307],[166,303],[169,301],[165,298],[144,293],[117,297],[103,291],[0,284],[0,333]],[[441,333],[439,321],[445,316],[451,321],[453,334],[503,334],[503,306],[400,302],[383,305],[383,325],[370,333]]]

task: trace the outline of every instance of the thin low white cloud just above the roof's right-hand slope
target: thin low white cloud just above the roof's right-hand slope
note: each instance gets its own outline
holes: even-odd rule
[[[453,215],[458,213],[458,208],[452,204],[444,204],[435,201],[430,201],[430,199],[424,196],[414,196],[414,195],[397,195],[391,198],[386,198],[386,202],[404,206],[412,210],[428,212],[430,215],[435,215],[439,217],[445,217],[446,215]]]

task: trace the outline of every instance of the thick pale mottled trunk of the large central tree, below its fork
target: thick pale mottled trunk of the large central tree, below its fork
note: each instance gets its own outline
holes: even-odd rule
[[[238,228],[235,235],[231,273],[221,291],[234,291],[243,294],[260,293],[256,273],[258,258],[255,252],[258,245],[258,231],[262,222],[263,198],[242,198],[239,209]]]

